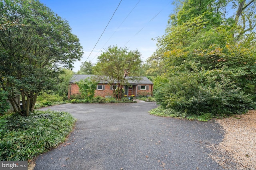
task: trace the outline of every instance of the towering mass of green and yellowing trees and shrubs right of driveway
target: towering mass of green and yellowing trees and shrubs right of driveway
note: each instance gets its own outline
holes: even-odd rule
[[[224,15],[230,1],[181,3],[150,58],[165,70],[154,79],[154,113],[207,121],[254,109],[255,2],[238,2],[234,18]]]

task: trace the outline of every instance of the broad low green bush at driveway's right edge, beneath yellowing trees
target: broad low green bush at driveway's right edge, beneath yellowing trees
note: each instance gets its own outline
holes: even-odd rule
[[[156,101],[162,108],[176,112],[174,115],[202,116],[204,120],[246,113],[255,108],[250,97],[224,76],[219,81],[207,77],[204,83],[199,82],[193,74],[173,76],[168,84],[156,90]]]

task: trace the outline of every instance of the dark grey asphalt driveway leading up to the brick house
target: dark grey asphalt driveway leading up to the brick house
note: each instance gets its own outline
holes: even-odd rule
[[[214,123],[157,117],[155,102],[64,104],[76,127],[58,148],[38,156],[34,170],[222,170],[209,154],[223,131]]]

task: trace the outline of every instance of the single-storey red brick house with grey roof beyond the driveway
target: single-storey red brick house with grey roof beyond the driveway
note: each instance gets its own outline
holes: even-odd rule
[[[68,87],[68,99],[70,96],[79,94],[79,87],[76,82],[82,79],[91,78],[93,75],[74,74],[69,87]],[[134,95],[153,95],[153,83],[147,77],[140,77],[140,80],[129,80],[131,77],[127,77],[128,84],[124,86],[124,91],[127,96]],[[95,90],[94,96],[110,97],[113,94],[113,90],[116,89],[116,85],[110,85],[108,82],[99,81]]]

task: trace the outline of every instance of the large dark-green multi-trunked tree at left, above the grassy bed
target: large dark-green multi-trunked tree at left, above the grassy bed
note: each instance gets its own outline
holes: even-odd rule
[[[72,68],[80,60],[82,47],[68,22],[38,0],[2,0],[0,18],[0,51],[6,55],[0,59],[0,86],[15,111],[28,115],[39,92],[56,89],[60,67]]]

